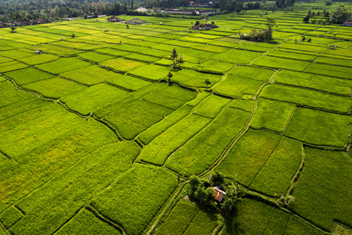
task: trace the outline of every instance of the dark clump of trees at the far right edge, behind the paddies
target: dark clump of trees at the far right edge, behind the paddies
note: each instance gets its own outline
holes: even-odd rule
[[[327,10],[323,10],[322,12],[318,11],[317,13],[309,10],[307,14],[303,17],[304,23],[344,23],[344,21],[349,21],[352,17],[351,12],[348,12],[346,9],[338,8],[334,12],[329,12]]]

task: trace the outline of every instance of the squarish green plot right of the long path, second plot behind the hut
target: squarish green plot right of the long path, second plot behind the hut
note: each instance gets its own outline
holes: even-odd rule
[[[295,111],[295,104],[260,99],[258,109],[251,120],[251,127],[282,133],[289,124],[293,111]]]

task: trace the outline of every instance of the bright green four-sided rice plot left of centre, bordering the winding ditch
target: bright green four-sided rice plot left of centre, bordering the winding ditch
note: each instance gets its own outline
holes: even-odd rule
[[[128,91],[107,84],[97,84],[76,93],[63,96],[60,98],[60,101],[66,104],[68,109],[77,111],[81,115],[89,115],[104,105],[119,100],[128,94]]]

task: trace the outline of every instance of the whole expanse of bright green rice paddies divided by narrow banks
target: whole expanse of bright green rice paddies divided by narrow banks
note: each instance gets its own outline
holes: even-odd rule
[[[342,4],[1,28],[0,234],[352,234],[352,28],[302,23]],[[229,220],[185,196],[215,171]]]

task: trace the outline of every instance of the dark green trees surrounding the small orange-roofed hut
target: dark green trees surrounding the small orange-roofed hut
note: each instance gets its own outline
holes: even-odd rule
[[[216,193],[213,189],[214,186],[218,185],[226,185],[224,186],[226,194],[219,205],[215,202]],[[236,203],[241,200],[242,191],[239,190],[237,181],[234,184],[225,184],[225,178],[222,173],[215,172],[210,179],[192,176],[186,194],[190,200],[202,205],[209,211],[218,212],[220,210],[226,218],[231,216]]]

